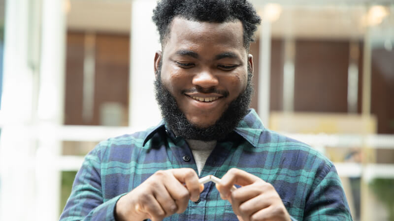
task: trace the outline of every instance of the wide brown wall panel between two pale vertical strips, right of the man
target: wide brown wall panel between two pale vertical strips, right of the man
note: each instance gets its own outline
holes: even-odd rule
[[[348,41],[297,40],[295,111],[347,112]]]

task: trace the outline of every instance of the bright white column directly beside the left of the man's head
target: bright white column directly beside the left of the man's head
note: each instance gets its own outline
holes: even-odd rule
[[[155,6],[156,0],[133,0],[131,4],[129,126],[137,130],[161,119],[153,86],[154,56],[161,50],[152,22]]]

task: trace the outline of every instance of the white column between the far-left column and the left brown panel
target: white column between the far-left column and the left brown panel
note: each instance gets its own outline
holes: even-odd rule
[[[38,93],[38,147],[36,152],[35,220],[59,219],[61,141],[66,45],[64,0],[42,0],[41,62]]]

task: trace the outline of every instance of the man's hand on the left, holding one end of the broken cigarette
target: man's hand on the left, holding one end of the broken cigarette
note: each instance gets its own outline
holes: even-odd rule
[[[118,200],[115,216],[121,221],[163,220],[183,213],[189,199],[197,201],[203,189],[193,169],[159,170]]]

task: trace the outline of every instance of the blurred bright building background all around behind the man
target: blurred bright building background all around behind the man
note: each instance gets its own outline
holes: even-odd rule
[[[393,0],[253,0],[252,107],[394,221]],[[83,157],[156,125],[156,0],[0,0],[0,220],[58,220]]]

